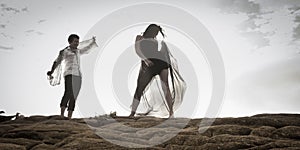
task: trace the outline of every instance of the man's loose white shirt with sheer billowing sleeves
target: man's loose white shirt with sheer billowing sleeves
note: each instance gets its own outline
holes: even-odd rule
[[[80,56],[82,54],[88,54],[91,49],[98,47],[93,39],[85,40],[79,43],[77,50],[71,50],[70,47],[59,52],[55,62],[59,65],[55,68],[52,73],[52,77],[49,78],[50,85],[59,85],[61,81],[61,75],[75,75],[81,76],[80,70]]]

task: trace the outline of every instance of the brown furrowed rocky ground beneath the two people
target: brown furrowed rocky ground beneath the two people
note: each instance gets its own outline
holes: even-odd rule
[[[110,116],[67,120],[59,116],[31,116],[0,123],[1,150],[129,147],[300,149],[300,114],[192,120]]]

